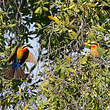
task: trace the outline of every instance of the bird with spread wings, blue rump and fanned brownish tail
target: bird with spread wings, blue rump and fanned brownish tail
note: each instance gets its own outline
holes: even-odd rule
[[[8,58],[7,62],[12,62],[12,65],[9,65],[9,67],[7,67],[3,73],[4,76],[9,79],[21,79],[26,77],[24,71],[21,68],[21,65],[24,62],[37,64],[36,59],[28,50],[27,45],[17,45],[11,52],[11,55]]]

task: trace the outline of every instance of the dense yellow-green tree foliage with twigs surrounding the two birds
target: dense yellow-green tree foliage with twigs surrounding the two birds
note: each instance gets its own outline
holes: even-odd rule
[[[2,109],[110,109],[109,0],[0,3]],[[25,80],[4,79],[11,49],[35,38],[40,44],[38,61],[45,63],[40,79],[33,80],[31,75]],[[83,50],[92,41],[98,42],[103,53],[98,58]]]

